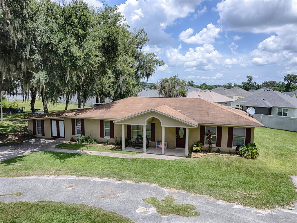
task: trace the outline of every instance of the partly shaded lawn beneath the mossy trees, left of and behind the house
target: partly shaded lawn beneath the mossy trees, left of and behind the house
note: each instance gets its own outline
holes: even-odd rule
[[[9,101],[12,104],[14,101]],[[3,114],[3,124],[0,123],[0,133],[5,134],[0,136],[0,146],[20,143],[26,140],[26,134],[28,133],[27,121],[19,120],[26,117],[30,112],[30,102],[15,101],[18,107],[25,107],[26,113],[22,114]],[[88,106],[86,106],[88,107]],[[36,100],[35,108],[42,109],[42,101]],[[69,104],[68,109],[75,109],[77,105]],[[65,109],[64,103],[58,103],[53,106],[51,103],[48,106],[49,112],[57,112]]]

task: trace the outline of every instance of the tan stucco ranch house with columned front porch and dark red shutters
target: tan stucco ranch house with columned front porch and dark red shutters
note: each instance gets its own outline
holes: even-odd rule
[[[183,150],[188,155],[192,142],[206,145],[211,131],[213,147],[234,151],[235,145],[254,142],[255,127],[264,127],[246,112],[219,105],[201,98],[129,97],[92,108],[72,109],[31,115],[29,130],[37,137],[71,139],[91,134],[97,141],[135,139],[149,136],[149,147],[162,142],[167,148]],[[125,147],[122,140],[122,149]],[[159,143],[158,143],[159,144]]]

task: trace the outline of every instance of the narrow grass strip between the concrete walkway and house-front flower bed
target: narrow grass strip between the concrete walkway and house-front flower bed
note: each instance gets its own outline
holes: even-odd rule
[[[91,145],[91,144],[79,144],[64,142],[59,145],[56,145],[58,149],[67,149],[67,150],[88,150],[88,151],[99,151],[99,152],[109,152],[109,153],[124,153],[124,154],[140,154],[137,152],[129,152],[123,150],[116,150],[112,146],[108,145]]]

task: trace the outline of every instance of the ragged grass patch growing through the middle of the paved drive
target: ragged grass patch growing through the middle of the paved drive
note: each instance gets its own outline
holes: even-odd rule
[[[196,207],[190,204],[176,204],[176,199],[167,195],[165,199],[161,201],[157,197],[143,198],[144,202],[153,205],[156,208],[157,213],[162,216],[168,216],[170,214],[180,215],[184,217],[197,217],[200,215],[198,211],[194,211]]]

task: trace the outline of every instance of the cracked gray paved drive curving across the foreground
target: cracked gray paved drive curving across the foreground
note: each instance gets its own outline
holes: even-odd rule
[[[295,179],[296,180],[296,179]],[[222,202],[208,196],[193,195],[183,191],[161,188],[149,183],[116,181],[108,178],[75,176],[42,176],[0,178],[0,194],[23,193],[20,197],[2,196],[0,201],[39,201],[87,204],[114,211],[134,222],[215,222],[215,223],[296,223],[297,205],[293,209],[261,211],[241,205]],[[164,198],[171,195],[176,203],[197,207],[199,217],[176,215],[160,216],[155,209],[142,201],[144,197]],[[147,208],[147,210],[145,209]],[[141,211],[142,209],[146,211]]]

